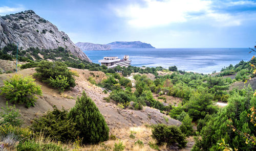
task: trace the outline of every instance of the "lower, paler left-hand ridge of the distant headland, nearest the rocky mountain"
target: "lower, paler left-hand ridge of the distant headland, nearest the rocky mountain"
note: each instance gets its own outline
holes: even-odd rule
[[[76,45],[82,49],[82,51],[110,51],[110,45],[106,44],[94,44],[89,42],[77,42]]]

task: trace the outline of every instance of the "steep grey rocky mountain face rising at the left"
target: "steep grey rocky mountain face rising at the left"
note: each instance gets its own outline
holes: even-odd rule
[[[67,34],[59,31],[54,24],[36,15],[32,10],[0,16],[0,48],[9,43],[18,43],[23,49],[63,47],[74,56],[91,62]]]

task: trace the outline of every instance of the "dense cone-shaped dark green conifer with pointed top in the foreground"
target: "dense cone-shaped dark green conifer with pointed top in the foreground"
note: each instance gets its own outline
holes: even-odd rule
[[[68,117],[76,123],[84,144],[108,140],[109,127],[95,103],[84,91],[80,98],[77,97],[75,107],[70,110]]]

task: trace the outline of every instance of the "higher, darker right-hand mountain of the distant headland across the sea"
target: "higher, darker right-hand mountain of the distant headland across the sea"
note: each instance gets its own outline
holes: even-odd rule
[[[151,44],[141,41],[115,41],[108,45],[110,45],[111,48],[155,48]]]

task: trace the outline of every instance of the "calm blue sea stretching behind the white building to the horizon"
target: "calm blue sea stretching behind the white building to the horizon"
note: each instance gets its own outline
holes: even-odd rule
[[[176,65],[179,70],[198,73],[220,71],[222,67],[248,61],[253,56],[249,48],[156,48],[156,49],[113,49],[111,51],[84,51],[94,62],[103,57],[129,55],[133,66],[168,68]]]

